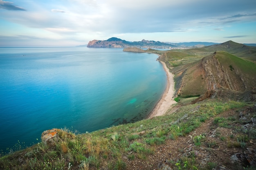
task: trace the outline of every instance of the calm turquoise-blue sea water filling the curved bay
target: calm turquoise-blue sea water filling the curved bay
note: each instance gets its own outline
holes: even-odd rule
[[[157,55],[122,50],[0,48],[0,150],[52,128],[84,133],[144,119],[166,73]]]

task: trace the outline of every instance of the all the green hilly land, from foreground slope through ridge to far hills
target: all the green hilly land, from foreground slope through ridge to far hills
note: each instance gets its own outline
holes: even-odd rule
[[[256,64],[245,60],[246,48],[126,49],[160,55],[175,76],[177,104],[163,116],[91,133],[47,130],[38,144],[1,157],[0,169],[254,170]]]

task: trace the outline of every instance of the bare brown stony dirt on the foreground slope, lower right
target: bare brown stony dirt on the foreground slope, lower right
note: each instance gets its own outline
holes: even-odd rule
[[[229,110],[218,115],[218,117],[236,117],[240,119],[239,112]],[[254,109],[247,109],[247,115],[255,116]],[[249,118],[248,118],[249,119]],[[236,129],[243,126],[238,123],[231,124],[231,128],[224,128],[213,124],[214,118],[205,121],[199,128],[185,137],[178,137],[176,140],[166,139],[165,144],[155,146],[155,154],[149,155],[146,160],[137,159],[129,160],[126,155],[122,159],[126,162],[127,170],[162,170],[178,169],[175,166],[182,157],[193,155],[195,161],[199,163],[198,169],[207,167],[207,163],[215,163],[215,170],[240,170],[243,166],[249,166],[249,162],[243,160],[240,163],[232,163],[231,157],[236,153],[245,154],[248,148],[252,150],[251,155],[255,160],[256,139],[244,140],[245,147],[235,146],[238,138],[244,135],[237,132]],[[251,122],[252,123],[252,122]],[[196,146],[193,137],[205,135],[200,146]],[[166,168],[168,167],[168,168]]]

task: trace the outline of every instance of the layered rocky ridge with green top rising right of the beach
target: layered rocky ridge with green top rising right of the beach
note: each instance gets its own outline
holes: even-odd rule
[[[186,68],[186,69],[185,69]],[[256,64],[224,51],[218,51],[186,67],[173,68],[180,79],[177,95],[195,95],[225,90],[256,91]],[[180,76],[180,78],[179,78]]]

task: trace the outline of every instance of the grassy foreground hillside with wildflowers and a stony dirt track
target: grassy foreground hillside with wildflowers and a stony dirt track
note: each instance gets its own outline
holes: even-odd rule
[[[0,158],[0,169],[243,169],[247,164],[238,166],[229,158],[256,146],[256,129],[244,130],[242,125],[250,121],[239,118],[249,108],[248,120],[256,116],[254,104],[211,99],[88,134],[58,130],[55,146],[40,142],[10,153]]]

